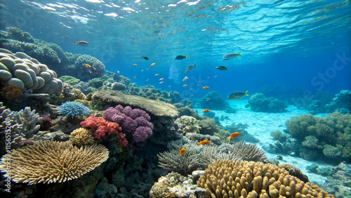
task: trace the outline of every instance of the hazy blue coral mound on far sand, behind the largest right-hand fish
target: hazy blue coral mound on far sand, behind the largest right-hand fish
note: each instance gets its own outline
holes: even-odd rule
[[[279,113],[286,112],[288,107],[282,100],[277,98],[266,98],[263,93],[255,93],[249,98],[249,105],[254,112]]]

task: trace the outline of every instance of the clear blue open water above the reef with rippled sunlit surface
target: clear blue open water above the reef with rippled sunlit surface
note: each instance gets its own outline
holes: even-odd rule
[[[338,93],[351,89],[350,13],[350,1],[341,0],[6,0],[1,28],[19,27],[64,51],[93,55],[138,86],[152,84],[184,97],[255,93],[275,84]],[[76,40],[90,46],[72,44]],[[221,60],[239,52],[239,60]],[[177,55],[188,58],[174,60]],[[216,70],[219,65],[228,70]]]

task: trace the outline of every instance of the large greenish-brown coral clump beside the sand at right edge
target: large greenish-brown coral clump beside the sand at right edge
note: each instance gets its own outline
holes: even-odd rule
[[[336,111],[325,118],[303,114],[286,121],[291,138],[299,140],[300,156],[313,159],[322,154],[335,161],[351,157],[351,115]],[[327,159],[328,159],[327,158]]]

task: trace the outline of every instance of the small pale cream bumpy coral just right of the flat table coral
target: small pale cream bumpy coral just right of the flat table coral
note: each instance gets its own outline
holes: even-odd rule
[[[177,124],[177,131],[182,135],[185,135],[185,133],[200,133],[199,129],[201,129],[201,127],[197,124],[197,119],[194,117],[185,115],[176,119],[174,123]]]

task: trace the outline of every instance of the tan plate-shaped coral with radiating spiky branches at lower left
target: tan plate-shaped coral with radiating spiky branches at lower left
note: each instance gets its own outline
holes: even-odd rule
[[[74,180],[102,164],[109,157],[103,145],[73,146],[71,142],[39,141],[11,150],[0,161],[2,172],[15,183],[62,183]],[[7,160],[11,159],[11,173]]]

